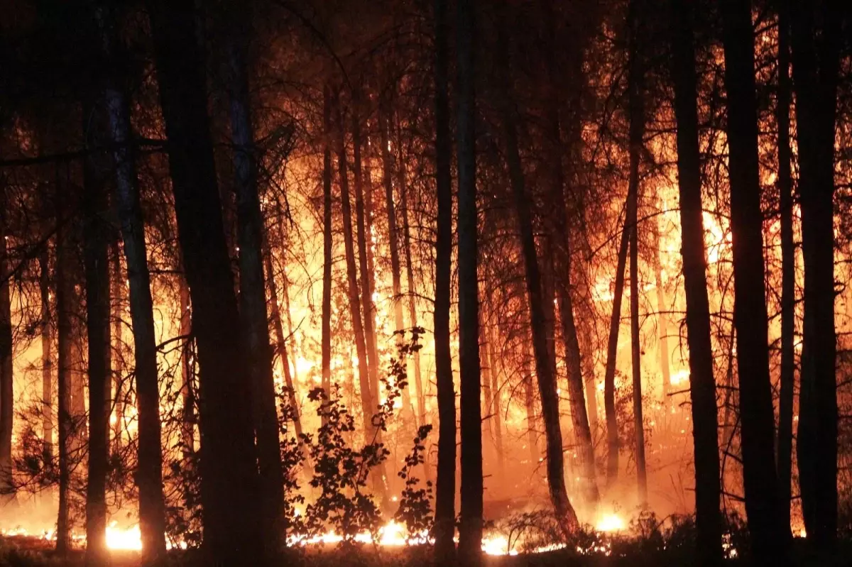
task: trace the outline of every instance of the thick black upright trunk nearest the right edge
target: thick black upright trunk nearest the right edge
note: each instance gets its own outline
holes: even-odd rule
[[[834,326],[834,142],[840,3],[792,2],[793,87],[804,259],[797,455],[808,540],[837,543],[838,399]]]

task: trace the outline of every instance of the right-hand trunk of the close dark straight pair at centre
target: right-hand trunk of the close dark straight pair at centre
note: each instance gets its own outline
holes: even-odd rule
[[[458,163],[458,365],[461,390],[461,564],[479,564],[482,553],[482,408],[479,357],[479,265],[476,216],[475,2],[456,5]],[[445,189],[446,192],[446,189]],[[554,391],[556,394],[556,390]]]

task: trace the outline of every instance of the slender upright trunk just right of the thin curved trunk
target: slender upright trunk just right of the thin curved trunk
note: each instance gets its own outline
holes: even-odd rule
[[[644,71],[639,52],[642,7],[631,0],[627,9],[628,78],[627,113],[630,118],[630,188],[627,192],[625,227],[630,231],[630,364],[633,374],[633,431],[636,435],[636,484],[639,503],[648,502],[648,473],[645,468],[645,425],[642,422],[642,346],[639,336],[639,164],[645,135]]]

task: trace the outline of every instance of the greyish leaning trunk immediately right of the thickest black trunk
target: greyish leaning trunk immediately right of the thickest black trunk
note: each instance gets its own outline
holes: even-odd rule
[[[245,339],[251,405],[260,472],[262,541],[269,557],[279,553],[285,531],[284,473],[281,468],[278,414],[269,345],[266,279],[263,277],[263,218],[257,183],[254,123],[246,66],[249,14],[233,9],[237,28],[227,45],[233,181],[237,197],[239,242],[239,318]],[[272,272],[268,273],[272,278]],[[274,300],[273,300],[274,301]],[[277,305],[276,305],[277,307]],[[280,319],[278,320],[280,325]],[[286,358],[284,358],[286,364]],[[289,373],[289,364],[286,371]],[[292,387],[292,383],[288,384]]]

